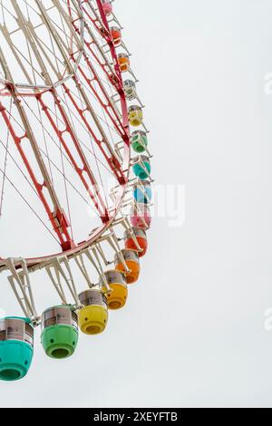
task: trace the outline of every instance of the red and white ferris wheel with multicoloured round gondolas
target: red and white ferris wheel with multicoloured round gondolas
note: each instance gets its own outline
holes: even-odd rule
[[[149,131],[112,3],[0,0],[0,273],[23,312],[0,319],[0,380],[26,375],[36,327],[54,359],[101,334],[140,276]]]

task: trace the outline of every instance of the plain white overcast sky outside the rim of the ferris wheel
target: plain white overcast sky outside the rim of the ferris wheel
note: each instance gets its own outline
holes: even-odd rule
[[[186,186],[186,221],[154,219],[130,303],[105,334],[81,335],[73,358],[47,359],[37,331],[32,369],[0,383],[0,405],[271,407],[272,4],[114,8],[141,80],[154,179]]]

